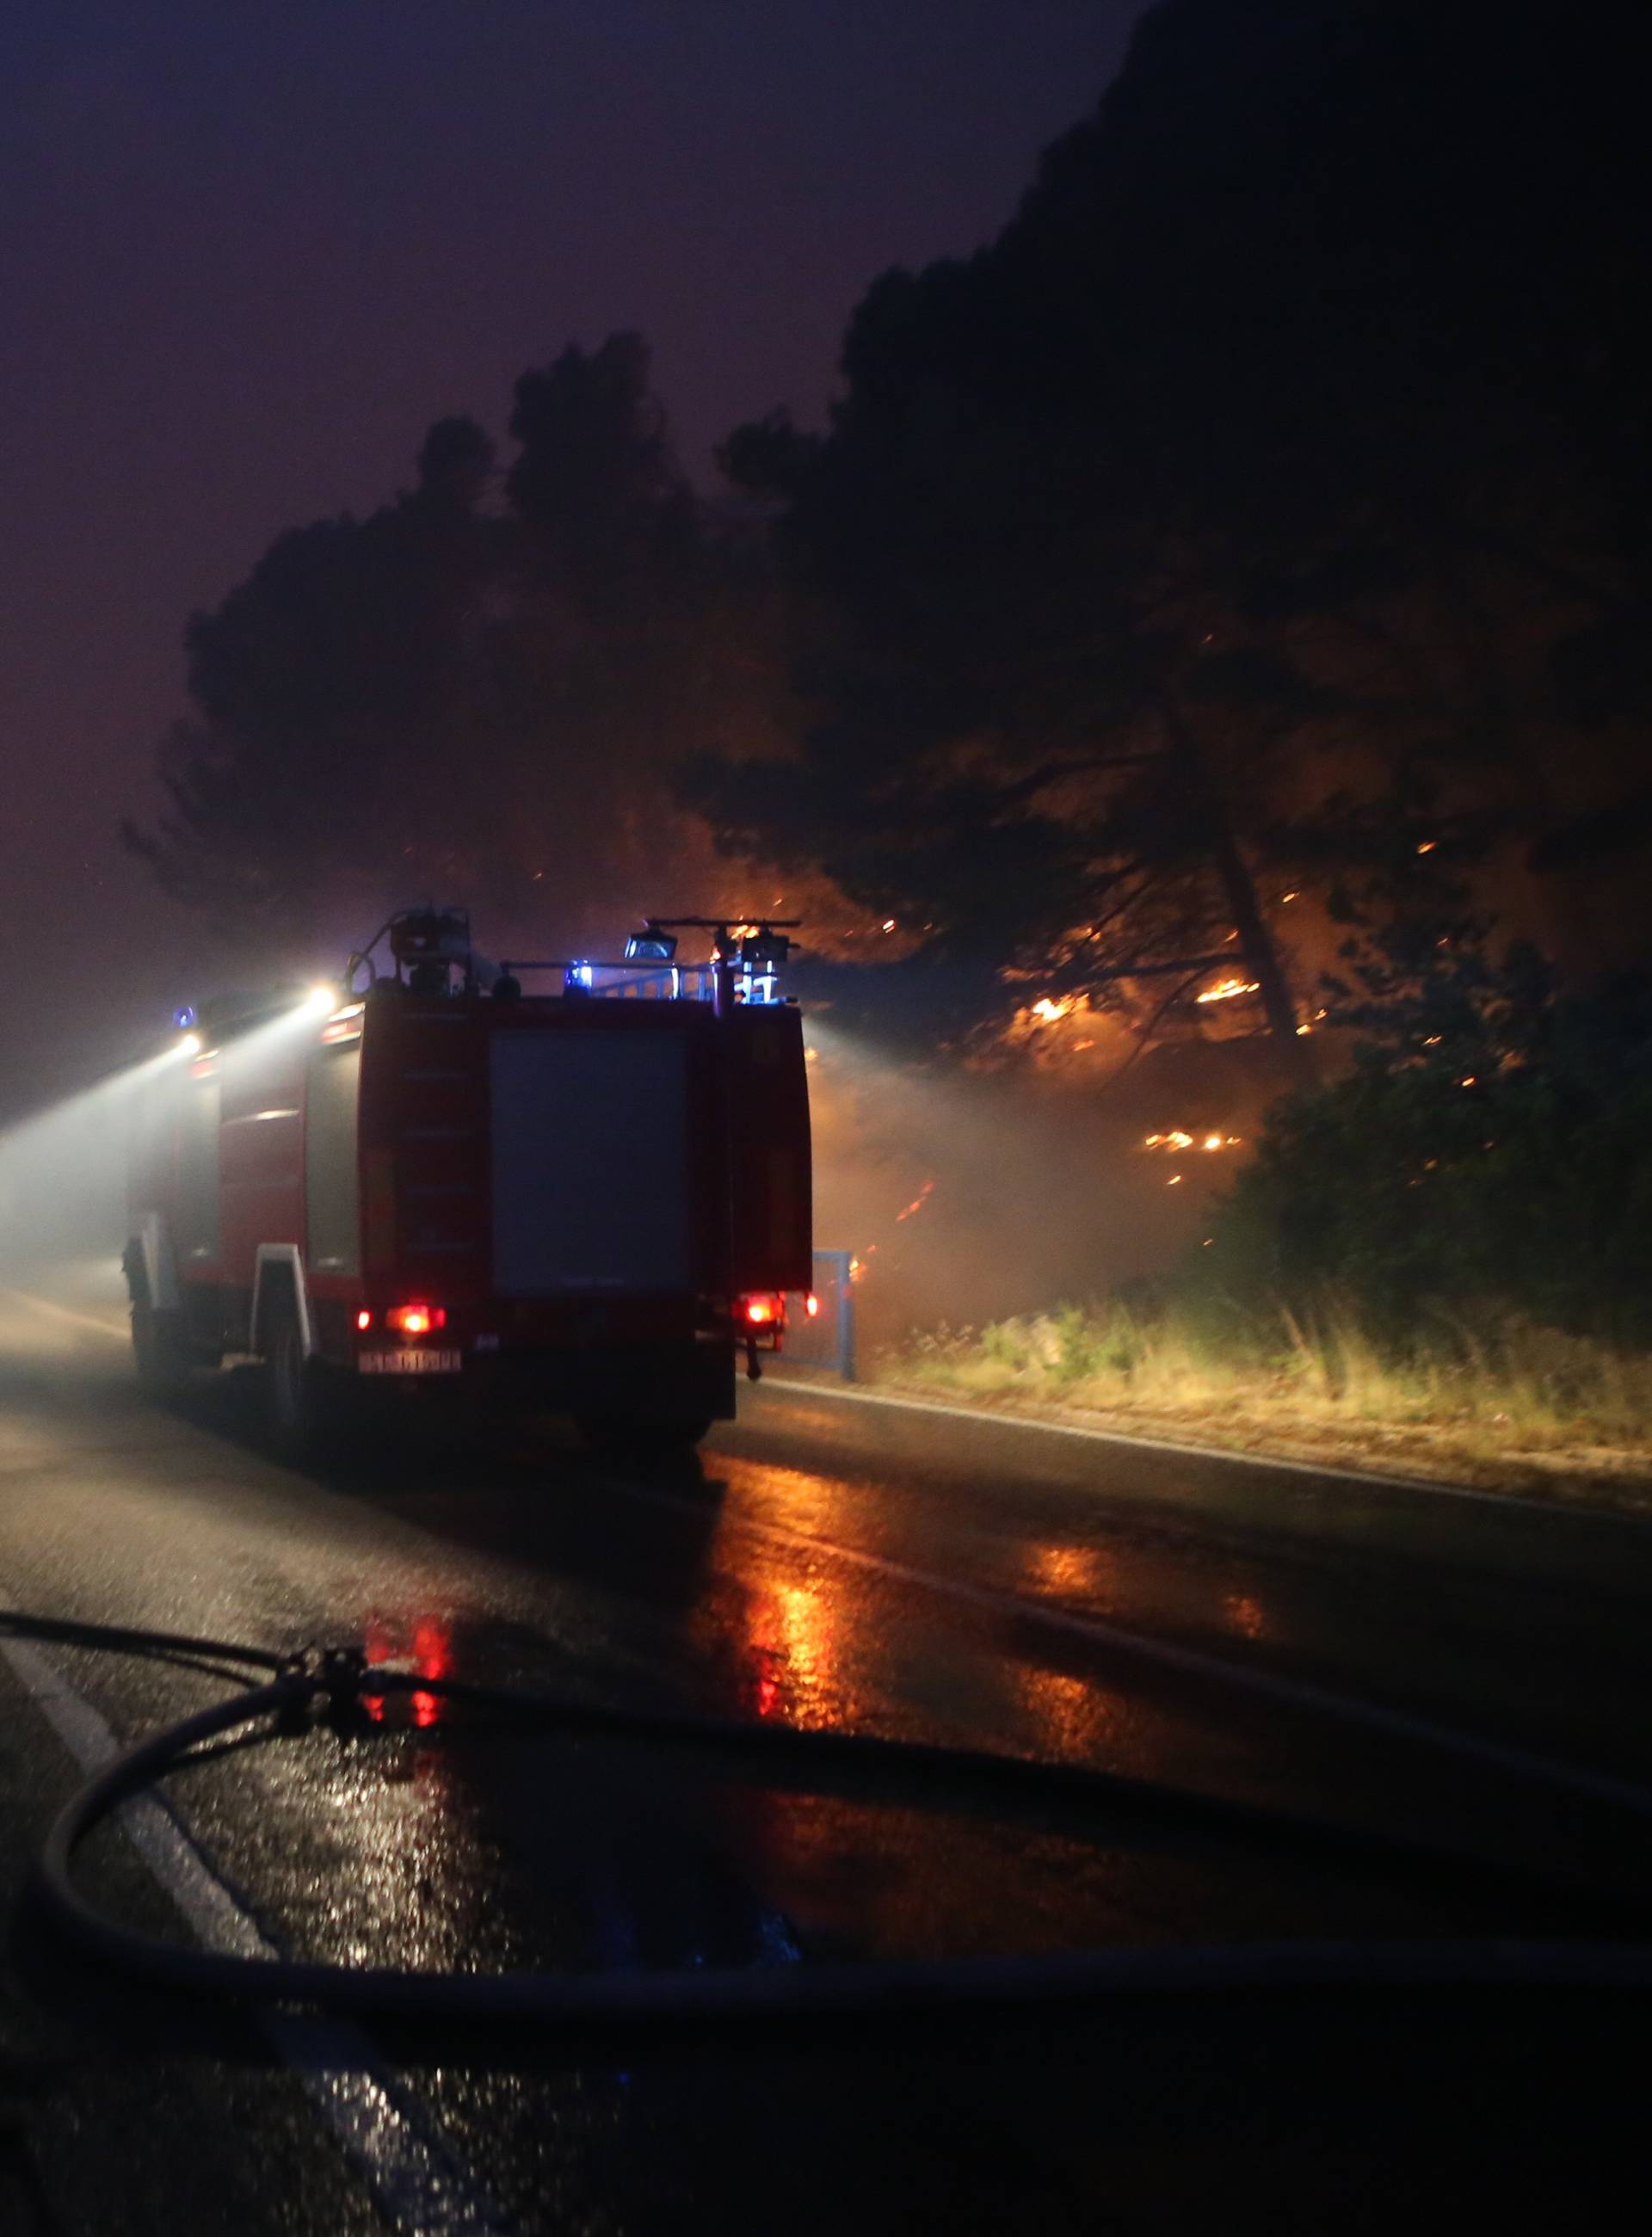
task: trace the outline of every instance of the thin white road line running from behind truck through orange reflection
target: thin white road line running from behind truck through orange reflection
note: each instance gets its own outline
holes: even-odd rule
[[[611,1483],[616,1490],[629,1492],[633,1499],[647,1499],[656,1506],[676,1508],[683,1514],[705,1514],[705,1510],[689,1499],[676,1499],[672,1492],[627,1483],[622,1476],[604,1476],[602,1483]],[[1634,1816],[1652,1819],[1652,1787],[1641,1787],[1627,1778],[1612,1778],[1605,1772],[1585,1772],[1569,1763],[1558,1763],[1554,1756],[1538,1756],[1524,1747],[1486,1740],[1475,1731],[1462,1731],[1457,1725],[1439,1725],[1428,1716],[1410,1716],[1406,1709],[1386,1709],[1381,1702],[1361,1700],[1357,1693],[1339,1693],[1332,1687],[1312,1684],[1303,1678],[1280,1678],[1276,1671],[1247,1669],[1242,1662],[1229,1662],[1227,1655],[1207,1655],[1198,1646],[1177,1646],[1173,1640],[1155,1640],[1144,1631],[1128,1631],[1121,1624],[1108,1624],[1099,1615],[1074,1615],[1068,1608],[1052,1608],[1045,1602],[1025,1599],[1021,1593],[998,1593],[987,1584],[965,1584],[960,1577],[942,1577],[936,1570],[913,1568],[909,1561],[891,1561],[880,1552],[862,1552],[857,1546],[839,1546],[835,1539],[822,1539],[808,1530],[792,1530],[788,1523],[768,1523],[757,1517],[728,1514],[728,1510],[723,1510],[723,1519],[732,1530],[745,1530],[752,1537],[766,1537],[775,1544],[795,1546],[804,1552],[826,1555],[833,1561],[846,1561],[853,1568],[864,1568],[877,1577],[893,1577],[900,1584],[913,1584],[927,1593],[940,1593],[947,1599],[960,1599],[967,1606],[987,1608],[992,1615],[1014,1617],[1019,1624],[1036,1624],[1045,1631],[1061,1631],[1068,1637],[1090,1640],[1095,1646],[1106,1646],[1115,1653],[1137,1655],[1144,1662],[1160,1662],[1164,1669],[1182,1671],[1191,1678],[1213,1680],[1215,1684],[1240,1693],[1256,1693],[1263,1700],[1285,1702],[1292,1709],[1310,1709],[1316,1716],[1341,1718],[1345,1725],[1363,1725],[1368,1731],[1381,1731],[1390,1738],[1415,1740],[1424,1747],[1442,1749],[1444,1754],[1466,1756],[1473,1763],[1513,1772],[1520,1778],[1531,1778],[1567,1794],[1583,1794],[1589,1796],[1589,1801],[1609,1803],[1616,1810],[1630,1810]]]

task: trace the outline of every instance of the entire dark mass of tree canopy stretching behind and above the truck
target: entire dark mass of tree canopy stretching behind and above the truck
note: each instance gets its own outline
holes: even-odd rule
[[[728,438],[730,494],[611,336],[522,376],[504,468],[439,421],[410,492],[278,537],[190,624],[132,843],[244,924],[775,879],[983,1020],[1296,1080],[1348,935],[1473,895],[1609,957],[1648,58],[1601,4],[1164,0],[996,239],[869,289],[828,430]]]

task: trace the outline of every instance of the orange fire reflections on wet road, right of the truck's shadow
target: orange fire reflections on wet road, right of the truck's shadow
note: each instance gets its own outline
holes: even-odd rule
[[[969,1537],[974,1575],[947,1575],[958,1541],[927,1485],[723,1452],[712,1465],[723,1499],[692,1635],[723,1702],[1180,1785],[1231,1781],[1227,1722],[1200,1722],[1155,1682],[1171,1664],[1229,1684],[1242,1678],[1238,1624],[1258,1626],[1263,1649],[1278,1637],[1274,1606],[1233,1591],[1231,1564],[1186,1561],[1153,1530],[1019,1532],[1007,1512],[1003,1530]],[[790,1611],[777,1584],[799,1591]],[[1137,1606],[1164,1644],[1119,1622]],[[1227,1653],[1200,1644],[1213,1635]]]

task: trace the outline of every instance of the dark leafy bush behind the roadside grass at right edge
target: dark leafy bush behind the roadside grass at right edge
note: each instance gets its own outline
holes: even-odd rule
[[[1180,1289],[1298,1318],[1332,1291],[1392,1353],[1511,1315],[1652,1340],[1652,987],[1560,995],[1475,928],[1390,933],[1361,969],[1352,1072],[1278,1105]],[[1421,942],[1421,944],[1419,944]]]

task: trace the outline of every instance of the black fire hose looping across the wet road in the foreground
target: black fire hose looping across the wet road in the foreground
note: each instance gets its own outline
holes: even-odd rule
[[[367,1664],[358,1649],[307,1649],[280,1655],[226,1640],[130,1626],[76,1624],[0,1611],[0,1624],[40,1640],[152,1655],[217,1676],[257,1671],[231,1698],[141,1740],[87,1778],[58,1812],[36,1866],[36,1893],[56,1926],[83,1951],[139,1980],[242,2002],[316,2004],[356,2016],[445,2022],[573,2024],[602,2020],[761,2020],[799,2013],[893,2013],[947,2007],[1090,2002],[1128,1991],[1263,1991],[1348,1986],[1652,1986],[1652,1942],[1556,1937],[1442,1939],[1258,1939],[1168,1948],[1101,1948],[1007,1957],[830,1960],[680,1971],[519,1971],[423,1973],[398,1966],[260,1960],[161,1942],[103,1913],[74,1881],[81,1841],[123,1801],[188,1767],[210,1740],[264,1725],[295,1736],[320,1720],[365,1725],[363,1702],[428,1693],[479,1711],[506,1714],[562,1736],[640,1743],[703,1756],[734,1756],[770,1783],[857,1781],[904,1805],[1101,1810],[1148,1816],[1166,1828],[1222,1834],[1294,1857],[1386,1861],[1435,1890],[1484,1897],[1489,1886],[1554,1899],[1554,1879],[1493,1868],[1412,1841],[1287,1816],[1251,1803],[1195,1794],[1155,1781],[1077,1765],[882,1740],[842,1731],[801,1731],[674,1709],[620,1709],[515,1687],[428,1678]],[[378,1727],[365,1725],[367,1731]],[[1601,1904],[1601,1897],[1589,1897]],[[1627,1904],[1621,1906],[1627,1913]],[[1641,1926],[1639,1910],[1634,1924]]]

